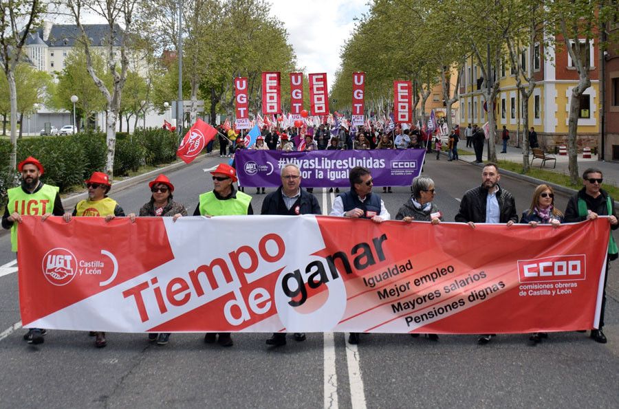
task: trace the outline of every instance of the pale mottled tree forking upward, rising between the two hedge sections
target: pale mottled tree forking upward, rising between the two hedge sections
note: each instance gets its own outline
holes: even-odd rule
[[[67,8],[80,30],[80,45],[86,54],[86,67],[88,74],[105,97],[106,107],[106,142],[107,160],[105,170],[109,177],[113,177],[114,152],[116,148],[116,122],[119,120],[120,100],[124,82],[127,80],[129,69],[129,45],[133,36],[133,10],[138,5],[138,0],[67,0]],[[111,85],[106,85],[104,80],[94,70],[93,52],[91,43],[82,23],[82,13],[92,12],[102,18],[107,25],[105,34],[105,63],[107,72],[111,75]],[[120,28],[124,26],[124,30]],[[118,66],[120,63],[120,67]]]

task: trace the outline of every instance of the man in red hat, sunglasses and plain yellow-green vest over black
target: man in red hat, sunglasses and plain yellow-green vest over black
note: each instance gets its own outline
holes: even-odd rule
[[[210,174],[213,175],[213,190],[200,195],[198,206],[193,212],[194,216],[211,217],[254,214],[251,203],[252,197],[239,190],[235,190],[235,187],[232,185],[237,181],[235,168],[228,164],[219,164]],[[213,344],[216,337],[217,333],[206,333],[204,342]],[[217,342],[221,346],[232,346],[233,344],[229,332],[220,332]]]

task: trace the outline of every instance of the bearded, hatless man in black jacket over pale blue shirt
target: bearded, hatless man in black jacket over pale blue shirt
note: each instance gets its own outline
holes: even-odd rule
[[[481,171],[481,186],[464,193],[455,221],[468,223],[506,223],[508,227],[518,223],[516,201],[508,190],[499,186],[501,175],[499,166],[492,162],[484,165]],[[477,343],[488,344],[494,334],[481,335]]]

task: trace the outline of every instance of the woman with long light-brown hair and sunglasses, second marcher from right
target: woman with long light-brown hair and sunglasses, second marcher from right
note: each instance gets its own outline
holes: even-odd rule
[[[520,223],[527,223],[531,227],[539,224],[550,224],[553,228],[563,221],[563,213],[554,206],[554,190],[547,184],[537,186],[533,192],[533,200],[528,210],[525,210]],[[532,345],[539,344],[543,338],[548,338],[545,332],[533,333],[529,340]]]

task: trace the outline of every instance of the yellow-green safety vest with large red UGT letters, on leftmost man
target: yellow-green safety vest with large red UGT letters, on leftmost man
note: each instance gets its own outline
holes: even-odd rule
[[[8,203],[6,208],[9,214],[17,212],[28,216],[43,216],[54,210],[54,200],[58,195],[58,187],[43,184],[39,191],[26,193],[21,186],[7,191]],[[11,250],[17,252],[17,225],[14,222],[11,227]]]

